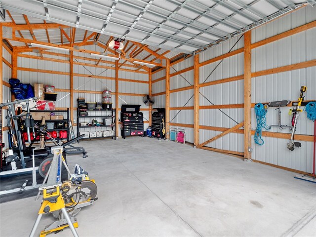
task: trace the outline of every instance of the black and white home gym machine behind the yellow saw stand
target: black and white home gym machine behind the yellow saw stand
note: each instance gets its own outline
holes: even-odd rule
[[[18,175],[22,173],[28,173],[32,171],[32,186],[27,186],[28,180],[24,182],[21,188],[15,188],[15,189],[9,189],[9,190],[3,190],[0,191],[0,195],[3,194],[9,194],[9,193],[15,193],[15,192],[23,192],[24,190],[28,189],[34,189],[37,188],[37,180],[36,180],[36,171],[40,173],[42,177],[45,177],[45,174],[47,173],[47,169],[49,168],[50,161],[52,159],[52,154],[50,152],[50,147],[45,147],[45,149],[35,149],[33,147],[34,140],[31,142],[31,144],[26,147],[25,141],[22,137],[22,131],[20,128],[20,124],[18,120],[24,120],[24,127],[27,131],[28,140],[31,141],[31,130],[33,131],[33,136],[46,136],[49,137],[50,141],[54,143],[55,146],[58,146],[58,141],[54,139],[49,131],[47,130],[46,125],[42,124],[39,126],[35,125],[34,119],[32,118],[32,115],[30,113],[30,106],[29,101],[35,100],[36,97],[25,99],[25,100],[16,100],[14,102],[7,102],[0,104],[0,108],[7,106],[7,116],[6,118],[6,124],[8,127],[8,151],[6,152],[6,157],[4,157],[4,160],[6,164],[11,165],[11,170],[1,170],[0,176],[8,176],[8,175]],[[14,104],[21,104],[25,103],[24,109],[26,109],[26,112],[23,112],[19,115],[15,114],[14,110]],[[35,129],[37,129],[37,133],[35,133]],[[72,143],[78,141],[84,136],[81,135],[77,138],[74,138],[64,144],[61,144],[64,148],[64,151],[66,154],[83,154],[83,158],[87,157],[87,152],[82,147],[74,147],[71,145]],[[68,147],[67,147],[68,146]],[[39,167],[35,166],[35,159],[41,158],[42,161],[39,165],[41,170],[39,170]],[[26,167],[27,163],[26,161],[32,160],[32,167]],[[1,164],[2,164],[2,157],[1,157]],[[21,168],[17,167],[17,162],[21,161]],[[44,165],[45,164],[45,165]],[[7,165],[7,166],[8,166]],[[43,168],[45,167],[45,168]]]

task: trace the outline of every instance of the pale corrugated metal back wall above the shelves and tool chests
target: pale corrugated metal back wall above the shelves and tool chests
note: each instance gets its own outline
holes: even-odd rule
[[[83,46],[82,48],[87,49],[87,50],[97,51],[97,52],[104,51],[104,49],[102,49],[101,47],[97,45],[86,45],[86,46]],[[60,51],[54,51],[54,50],[52,51],[61,53]],[[28,54],[39,56],[37,53],[34,53],[34,52],[31,52]],[[93,62],[84,61],[82,59],[78,59],[76,58],[76,56],[90,58],[90,54],[75,51],[74,62],[75,63],[76,62],[93,63]],[[44,54],[44,57],[69,60],[68,56],[60,57],[56,55]],[[119,60],[119,63],[122,63],[122,62],[123,60]],[[111,65],[106,65],[103,63],[100,63],[99,65],[111,66]],[[113,60],[113,66],[115,66],[114,60]],[[25,58],[25,57],[18,57],[18,67],[52,70],[52,71],[59,71],[59,72],[66,72],[66,73],[70,72],[70,64],[68,63],[43,61],[43,60],[31,59],[31,58]],[[127,68],[127,67],[122,67],[122,68]],[[86,98],[86,101],[88,102],[101,102],[102,101],[102,94],[100,94],[101,91],[107,89],[107,90],[111,90],[112,92],[116,92],[115,91],[115,69],[112,70],[112,69],[96,68],[96,67],[91,67],[91,66],[83,66],[83,65],[74,64],[74,74],[75,74],[74,90],[91,91],[91,93],[78,93],[78,92],[74,93],[74,107],[75,108],[77,107],[78,97],[84,97]],[[85,74],[87,76],[85,77],[76,76],[76,74]],[[109,77],[109,79],[92,78],[92,77],[89,77],[90,75]],[[70,76],[69,75],[18,71],[18,78],[23,83],[31,83],[31,84],[42,83],[44,85],[54,85],[55,88],[59,88],[59,89],[70,89]],[[118,78],[148,81],[148,74],[119,71]],[[120,93],[148,94],[148,83],[119,81],[118,88],[119,88]],[[94,91],[96,91],[97,93],[94,93]],[[113,102],[113,108],[115,108],[115,95],[112,95],[112,102]],[[122,104],[136,104],[136,105],[142,105],[141,108],[146,107],[143,103],[143,96],[119,95],[118,107],[120,108]],[[70,93],[69,92],[58,92],[56,107],[63,107],[63,108],[70,107]],[[149,119],[148,111],[142,111],[142,112],[144,113],[145,121],[146,119],[148,120]],[[74,112],[74,118],[77,119],[76,111]],[[145,128],[147,128],[148,123],[145,123],[144,126]],[[89,129],[86,129],[86,130],[89,130]],[[84,131],[84,129],[82,129],[82,131]],[[119,135],[120,135],[120,131],[119,131]]]

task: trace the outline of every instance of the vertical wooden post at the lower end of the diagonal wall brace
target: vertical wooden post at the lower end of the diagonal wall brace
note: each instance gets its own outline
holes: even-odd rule
[[[194,56],[194,147],[199,143],[199,56]]]

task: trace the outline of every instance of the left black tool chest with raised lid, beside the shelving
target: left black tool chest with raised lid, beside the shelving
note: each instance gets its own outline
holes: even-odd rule
[[[143,136],[143,113],[139,112],[140,105],[122,105],[120,112],[121,136]]]

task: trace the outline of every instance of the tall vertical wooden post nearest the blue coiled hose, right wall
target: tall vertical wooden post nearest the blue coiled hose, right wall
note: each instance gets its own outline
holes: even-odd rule
[[[251,159],[251,31],[244,34],[244,158]]]

